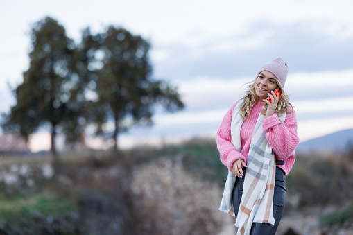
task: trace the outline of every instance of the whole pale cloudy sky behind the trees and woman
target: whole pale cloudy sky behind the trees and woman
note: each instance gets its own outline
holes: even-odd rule
[[[36,21],[51,16],[76,42],[121,26],[150,41],[155,78],[178,85],[185,110],[159,113],[152,128],[121,136],[160,141],[214,136],[246,82],[264,63],[289,64],[285,91],[296,107],[301,141],[353,128],[353,1],[5,1],[0,0],[0,111],[28,68]]]

